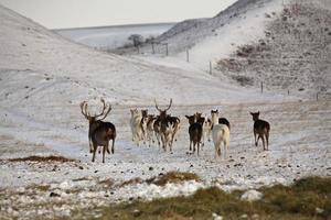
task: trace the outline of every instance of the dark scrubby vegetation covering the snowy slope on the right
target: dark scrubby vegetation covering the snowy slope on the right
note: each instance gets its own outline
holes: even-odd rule
[[[243,86],[264,81],[269,89],[331,96],[331,11],[311,1],[265,16],[265,37],[238,46],[217,69]]]

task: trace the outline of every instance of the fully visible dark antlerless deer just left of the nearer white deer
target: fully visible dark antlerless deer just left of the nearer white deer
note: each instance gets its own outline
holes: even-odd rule
[[[189,120],[189,134],[190,134],[190,151],[192,151],[193,144],[193,154],[195,153],[195,146],[197,148],[197,156],[200,151],[200,143],[202,139],[202,120],[197,120],[196,114],[185,116]]]

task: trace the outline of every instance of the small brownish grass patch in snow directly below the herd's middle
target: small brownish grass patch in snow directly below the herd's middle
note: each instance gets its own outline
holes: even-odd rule
[[[195,180],[200,182],[200,177],[193,173],[185,172],[169,172],[164,175],[160,175],[159,177],[152,177],[147,180],[148,184],[154,184],[158,186],[164,186],[168,183],[178,184],[181,182]]]

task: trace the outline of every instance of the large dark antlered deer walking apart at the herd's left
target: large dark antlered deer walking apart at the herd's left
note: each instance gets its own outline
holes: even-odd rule
[[[95,161],[95,153],[98,146],[103,146],[103,163],[105,163],[105,152],[109,152],[109,141],[113,140],[111,144],[111,153],[114,154],[114,144],[116,139],[116,128],[110,122],[103,121],[111,110],[111,106],[107,107],[104,99],[100,99],[103,102],[103,110],[99,114],[92,116],[87,108],[87,101],[83,101],[81,103],[82,114],[85,119],[88,120],[88,144],[89,144],[89,152],[93,153],[92,162]],[[102,118],[99,118],[102,117]],[[99,118],[99,119],[98,119]]]

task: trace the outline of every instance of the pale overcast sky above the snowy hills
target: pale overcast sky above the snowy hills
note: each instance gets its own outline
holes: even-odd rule
[[[236,0],[0,0],[49,29],[103,26],[214,16]]]

